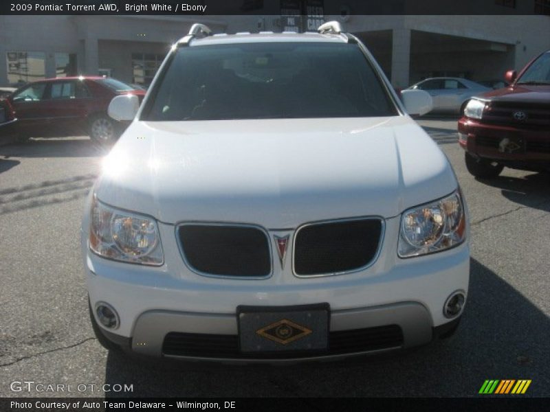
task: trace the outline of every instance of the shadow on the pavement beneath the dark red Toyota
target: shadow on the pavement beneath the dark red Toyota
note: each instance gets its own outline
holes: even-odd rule
[[[519,205],[550,211],[550,174],[533,173],[522,177],[498,176],[494,179],[477,179],[497,187],[509,201]]]

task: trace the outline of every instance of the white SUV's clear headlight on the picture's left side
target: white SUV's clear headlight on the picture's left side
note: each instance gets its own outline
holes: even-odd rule
[[[157,222],[153,218],[113,209],[95,196],[89,247],[104,258],[124,262],[158,266],[164,260]]]

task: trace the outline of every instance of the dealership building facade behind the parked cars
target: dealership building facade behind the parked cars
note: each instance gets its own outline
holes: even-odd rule
[[[348,11],[325,15],[317,8],[315,14],[296,16],[281,9],[281,15],[199,18],[0,16],[0,86],[81,74],[147,86],[170,45],[196,22],[213,32],[234,33],[311,30],[337,20],[362,39],[399,88],[431,76],[499,79],[550,49],[547,15],[366,16]]]

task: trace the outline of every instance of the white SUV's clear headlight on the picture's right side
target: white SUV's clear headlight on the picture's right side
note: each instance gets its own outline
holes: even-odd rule
[[[439,252],[461,244],[466,235],[459,192],[439,201],[408,209],[401,217],[397,253],[401,258]]]

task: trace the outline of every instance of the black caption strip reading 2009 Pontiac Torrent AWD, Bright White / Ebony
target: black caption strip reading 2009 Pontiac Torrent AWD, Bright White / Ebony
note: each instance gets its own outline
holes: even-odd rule
[[[546,0],[544,0],[546,1]],[[0,14],[550,14],[548,2],[525,0],[2,0]]]

